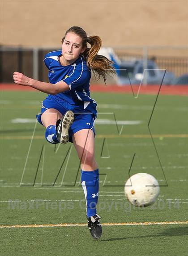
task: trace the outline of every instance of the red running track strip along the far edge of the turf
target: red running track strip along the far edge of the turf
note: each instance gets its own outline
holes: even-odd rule
[[[139,94],[158,94],[159,85],[142,85]],[[118,85],[90,85],[91,92],[107,92],[107,93],[131,93],[132,89],[134,94],[137,94],[139,89],[138,85],[133,85],[132,88],[129,85],[118,86]],[[34,88],[29,86],[21,86],[17,84],[0,84],[0,90],[11,90],[11,91],[36,91]],[[188,85],[162,85],[160,94],[167,95],[187,95],[188,96]]]

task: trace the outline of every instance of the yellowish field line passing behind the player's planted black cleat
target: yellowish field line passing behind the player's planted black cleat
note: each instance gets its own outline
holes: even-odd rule
[[[145,225],[173,225],[188,224],[186,221],[161,221],[161,222],[122,222],[122,223],[103,223],[103,226],[145,226]],[[85,223],[60,223],[60,224],[30,224],[30,225],[0,225],[0,228],[48,228],[48,227],[82,227]]]

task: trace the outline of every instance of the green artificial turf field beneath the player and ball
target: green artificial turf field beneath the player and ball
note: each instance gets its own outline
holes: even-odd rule
[[[48,144],[43,126],[34,122],[44,98],[39,92],[0,93],[0,225],[86,223],[75,149],[70,143]],[[156,95],[92,93],[92,98],[98,120],[111,121],[95,125],[101,223],[188,220],[188,98],[159,95],[155,108]],[[115,120],[140,123],[122,128]],[[128,203],[129,171],[156,177],[161,187],[153,206]],[[1,255],[186,256],[186,227],[103,226],[98,241],[86,226],[1,228]]]

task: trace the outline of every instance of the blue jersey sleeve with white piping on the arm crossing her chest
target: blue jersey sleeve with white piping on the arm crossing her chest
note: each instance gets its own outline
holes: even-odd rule
[[[90,82],[91,72],[86,69],[80,69],[77,67],[73,70],[73,72],[66,76],[62,81],[64,81],[70,88],[70,90],[74,90],[81,85],[85,85]]]

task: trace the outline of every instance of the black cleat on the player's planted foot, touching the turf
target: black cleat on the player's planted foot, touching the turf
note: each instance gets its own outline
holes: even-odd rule
[[[98,239],[102,235],[102,227],[100,224],[100,216],[95,214],[94,216],[88,218],[88,228],[90,229],[90,233],[94,239]]]

